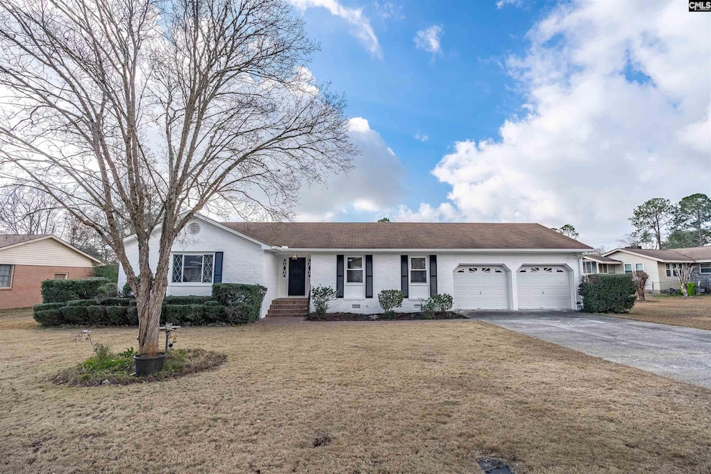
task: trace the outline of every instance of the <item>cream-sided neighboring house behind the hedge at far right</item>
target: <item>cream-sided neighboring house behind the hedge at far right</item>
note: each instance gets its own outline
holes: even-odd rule
[[[602,255],[588,254],[583,257],[583,274],[631,274],[642,270],[649,275],[647,291],[678,290],[677,268],[682,264],[693,264],[692,281],[707,289],[711,281],[711,246],[663,250],[625,247]]]

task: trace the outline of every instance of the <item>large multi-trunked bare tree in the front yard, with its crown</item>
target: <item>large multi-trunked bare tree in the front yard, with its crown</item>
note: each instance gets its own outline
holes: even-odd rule
[[[139,352],[159,348],[171,245],[196,212],[288,218],[302,183],[350,166],[343,99],[304,67],[317,49],[282,0],[0,0],[0,165],[116,253]]]

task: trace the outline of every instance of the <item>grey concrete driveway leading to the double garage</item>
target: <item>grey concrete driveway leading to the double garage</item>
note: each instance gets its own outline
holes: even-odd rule
[[[708,330],[565,311],[471,311],[467,316],[611,362],[711,388]]]

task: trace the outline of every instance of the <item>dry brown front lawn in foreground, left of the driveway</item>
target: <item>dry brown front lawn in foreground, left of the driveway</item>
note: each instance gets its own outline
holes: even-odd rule
[[[485,323],[187,328],[178,347],[228,362],[45,382],[89,355],[74,334],[0,316],[0,472],[476,473],[481,456],[517,473],[711,472],[708,390]]]

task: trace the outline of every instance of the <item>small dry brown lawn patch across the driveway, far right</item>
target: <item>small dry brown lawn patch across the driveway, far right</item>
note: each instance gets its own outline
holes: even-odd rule
[[[649,323],[685,326],[711,330],[711,296],[661,296],[637,301],[629,314],[614,314],[618,318]]]

